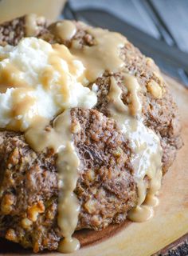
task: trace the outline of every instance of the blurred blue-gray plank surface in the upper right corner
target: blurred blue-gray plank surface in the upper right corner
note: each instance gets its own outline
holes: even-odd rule
[[[69,0],[73,10],[102,9],[188,52],[188,0]]]

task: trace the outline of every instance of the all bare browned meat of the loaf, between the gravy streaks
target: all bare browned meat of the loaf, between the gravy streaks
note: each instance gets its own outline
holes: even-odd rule
[[[64,43],[50,32],[54,25],[46,27],[38,23],[35,36],[48,42]],[[21,26],[20,26],[21,25]],[[80,46],[91,46],[92,38],[87,26],[76,23],[74,40]],[[14,31],[14,34],[12,33]],[[16,45],[25,36],[25,18],[6,22],[0,26],[0,44]],[[174,161],[182,146],[177,107],[168,87],[159,76],[159,69],[127,42],[121,52],[124,70],[135,75],[142,90],[143,122],[155,130],[163,146],[163,173]],[[136,205],[137,192],[131,175],[131,149],[112,118],[108,118],[108,90],[110,78],[115,77],[123,90],[123,102],[127,91],[123,86],[123,74],[105,72],[97,78],[99,86],[96,110],[72,109],[72,131],[81,169],[75,193],[80,201],[77,229],[99,230],[112,222],[123,222],[127,210]],[[151,94],[151,84],[163,86],[163,97]],[[92,86],[92,85],[91,85]],[[81,129],[76,129],[77,124]],[[61,238],[57,226],[57,155],[53,150],[36,154],[25,143],[23,134],[12,131],[0,133],[0,236],[22,246],[33,247],[35,252],[57,249]]]

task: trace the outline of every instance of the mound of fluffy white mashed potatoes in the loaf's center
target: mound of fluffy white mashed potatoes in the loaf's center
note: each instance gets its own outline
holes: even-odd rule
[[[61,47],[64,47],[65,53],[71,56],[68,48]],[[0,92],[2,92],[1,87],[7,86],[6,91],[0,93],[1,128],[10,127],[16,130],[19,120],[19,129],[26,130],[37,116],[52,119],[67,108],[76,106],[92,108],[96,105],[96,92],[79,82],[79,78],[84,76],[82,62],[72,57],[71,63],[68,63],[62,56],[59,59],[60,70],[50,62],[49,56],[53,53],[55,53],[53,46],[37,38],[23,38],[18,46],[0,46],[0,78],[6,69],[9,72],[10,67],[14,67],[13,70],[10,69],[10,75],[12,79],[17,76],[16,81],[18,81],[18,85],[11,86],[11,84],[3,84],[3,80],[0,80]],[[73,74],[70,64],[74,68]],[[48,69],[52,72],[46,88],[41,78]],[[65,75],[66,82],[59,79],[61,74]],[[25,82],[24,86],[19,84],[19,79]],[[26,102],[28,97],[33,101],[27,106],[27,110],[14,111],[19,101]]]

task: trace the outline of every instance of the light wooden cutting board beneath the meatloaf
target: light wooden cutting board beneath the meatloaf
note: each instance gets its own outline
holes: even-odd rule
[[[80,239],[82,248],[69,255],[151,256],[157,255],[159,250],[166,255],[167,245],[183,235],[181,241],[187,238],[185,234],[188,233],[188,90],[174,79],[164,76],[182,115],[182,138],[185,145],[163,178],[163,187],[159,195],[160,204],[155,208],[155,217],[148,222],[127,221],[123,225],[112,225],[100,232],[79,231],[76,237]],[[179,241],[175,243],[176,246]],[[0,240],[0,255],[33,254],[30,250],[23,250],[21,246]],[[61,254],[45,252],[45,255]]]

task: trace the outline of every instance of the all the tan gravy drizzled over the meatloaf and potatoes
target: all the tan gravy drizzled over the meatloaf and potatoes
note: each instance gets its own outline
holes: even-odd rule
[[[28,36],[35,34],[36,24],[33,14],[26,18],[25,30]],[[76,59],[84,64],[84,78],[81,81],[85,86],[89,82],[95,82],[96,78],[102,76],[105,70],[112,73],[122,70],[124,62],[119,58],[119,53],[127,42],[127,39],[118,33],[100,28],[87,28],[87,30],[88,34],[91,34],[94,38],[93,46],[80,47],[76,40],[72,40],[71,54],[69,50],[65,49],[65,46],[54,45],[53,49],[56,54],[50,56],[50,63],[53,68],[60,71],[60,58],[65,58],[69,63],[73,54]],[[53,29],[53,34],[63,40],[70,40],[76,34],[76,26],[70,21],[58,22]],[[70,70],[72,69],[71,72],[74,74],[74,67],[69,66],[69,68]],[[11,69],[12,67],[10,67]],[[52,72],[52,68],[47,68],[41,77],[41,82],[47,90],[49,89],[49,80],[52,78]],[[7,80],[8,86],[9,83],[14,86],[15,81],[12,81],[11,77],[7,77],[6,73],[4,74],[4,79]],[[66,79],[66,75],[62,73],[59,82],[65,84],[62,89],[65,90],[65,103],[69,100]],[[3,86],[3,84],[4,82],[0,81],[0,86]],[[22,86],[22,81],[21,83],[16,81],[15,84]],[[108,112],[109,116],[116,120],[135,152],[131,158],[131,163],[134,167],[133,175],[138,187],[139,201],[135,209],[129,212],[128,218],[141,222],[151,218],[153,214],[152,206],[157,203],[155,194],[157,194],[161,186],[162,149],[158,136],[143,125],[141,116],[142,103],[139,99],[140,86],[137,79],[130,74],[124,74],[124,86],[127,87],[129,93],[130,103],[128,106],[122,102],[122,90],[117,85],[115,78],[111,78],[111,86],[108,93]],[[80,247],[79,241],[72,238],[80,210],[79,202],[73,193],[76,188],[80,160],[76,154],[70,129],[69,104],[65,104],[65,111],[55,118],[52,128],[46,129],[45,127],[48,124],[48,119],[37,117],[33,126],[25,131],[25,139],[33,150],[37,152],[49,147],[53,148],[57,153],[59,186],[57,223],[64,237],[59,244],[58,250],[63,253],[69,253]]]

